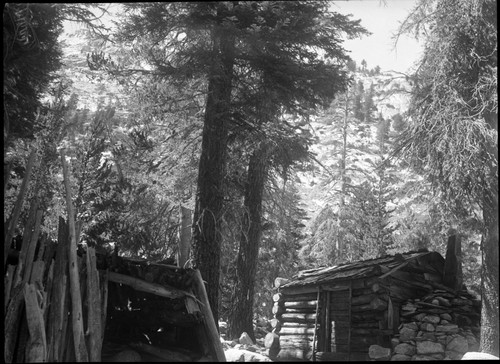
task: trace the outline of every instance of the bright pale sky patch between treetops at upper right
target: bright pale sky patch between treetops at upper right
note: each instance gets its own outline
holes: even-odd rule
[[[420,58],[422,46],[412,37],[400,38],[396,48],[392,35],[399,23],[413,9],[415,0],[341,0],[332,1],[332,10],[352,14],[351,19],[361,19],[361,25],[372,33],[353,40],[344,46],[360,65],[364,59],[369,69],[380,66],[384,71],[407,72]]]

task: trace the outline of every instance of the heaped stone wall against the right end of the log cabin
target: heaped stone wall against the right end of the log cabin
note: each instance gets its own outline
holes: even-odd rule
[[[479,348],[480,301],[466,291],[435,290],[401,307],[391,360],[461,359]]]

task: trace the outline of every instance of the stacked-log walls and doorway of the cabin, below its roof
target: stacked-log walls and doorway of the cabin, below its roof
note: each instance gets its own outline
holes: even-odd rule
[[[328,317],[335,321],[335,339],[331,341],[322,338],[322,335],[328,334],[322,321],[328,318],[322,318],[318,312],[316,320],[317,292],[300,293],[300,290],[290,288],[273,296],[273,332],[266,336],[266,347],[279,353],[279,359],[309,360],[314,343],[317,360],[365,360],[370,345],[392,332],[387,327],[389,295],[375,278],[353,281],[352,297],[346,288],[331,292],[331,301],[327,302],[326,292],[321,296],[319,309],[328,307]],[[315,324],[318,327],[316,335]],[[350,350],[349,342],[354,350]],[[329,357],[333,355],[331,353],[323,353],[322,346],[325,346],[325,351],[334,352],[335,357]],[[274,353],[270,350],[270,354]]]

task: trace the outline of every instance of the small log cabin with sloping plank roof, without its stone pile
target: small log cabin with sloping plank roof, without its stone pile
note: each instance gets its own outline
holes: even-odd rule
[[[279,338],[275,360],[369,360],[371,345],[390,347],[405,300],[433,289],[455,292],[443,284],[444,276],[445,259],[424,249],[277,279],[271,321],[272,335]]]

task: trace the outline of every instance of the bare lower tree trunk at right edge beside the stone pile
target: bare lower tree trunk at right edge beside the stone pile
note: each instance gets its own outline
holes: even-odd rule
[[[490,114],[487,121],[495,129],[498,114]],[[490,151],[498,161],[498,150],[493,146]],[[498,167],[492,166],[491,187],[483,200],[483,219],[485,232],[481,242],[483,264],[481,269],[481,342],[480,351],[499,356],[499,281],[498,281]]]

